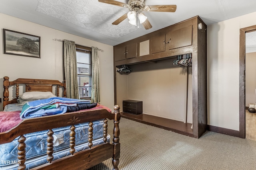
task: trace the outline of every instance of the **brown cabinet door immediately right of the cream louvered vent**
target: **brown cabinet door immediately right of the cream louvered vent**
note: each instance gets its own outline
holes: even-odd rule
[[[165,34],[161,34],[151,38],[151,52],[159,53],[165,51]]]

